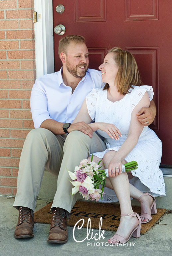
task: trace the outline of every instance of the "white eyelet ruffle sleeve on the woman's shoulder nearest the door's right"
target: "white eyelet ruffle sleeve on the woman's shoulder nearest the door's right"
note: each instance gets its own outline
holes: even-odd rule
[[[131,92],[131,111],[139,103],[139,101],[142,99],[146,91],[149,95],[149,100],[151,101],[154,95],[152,86],[149,86],[149,85],[134,86]]]

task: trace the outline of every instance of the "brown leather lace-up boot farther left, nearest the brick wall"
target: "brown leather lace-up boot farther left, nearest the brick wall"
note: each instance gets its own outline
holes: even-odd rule
[[[29,238],[33,237],[33,227],[34,227],[34,214],[33,210],[27,207],[19,207],[19,218],[18,223],[15,228],[14,237],[15,238]]]

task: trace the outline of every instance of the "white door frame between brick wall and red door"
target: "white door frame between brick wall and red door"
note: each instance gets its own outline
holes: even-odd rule
[[[54,72],[53,0],[34,0],[36,78]]]

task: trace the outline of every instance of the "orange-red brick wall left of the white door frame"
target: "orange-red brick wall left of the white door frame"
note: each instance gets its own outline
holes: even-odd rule
[[[21,149],[33,127],[33,0],[0,1],[0,194],[15,195]]]

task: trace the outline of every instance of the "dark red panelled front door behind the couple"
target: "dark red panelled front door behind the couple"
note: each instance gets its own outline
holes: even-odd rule
[[[63,14],[56,11],[65,7]],[[107,49],[119,46],[136,58],[142,81],[153,86],[157,115],[150,126],[162,140],[161,164],[172,165],[172,1],[171,0],[61,0],[53,1],[54,27],[63,24],[63,36],[54,33],[55,71],[62,63],[58,42],[67,35],[83,35],[89,50],[89,68],[98,69]]]

